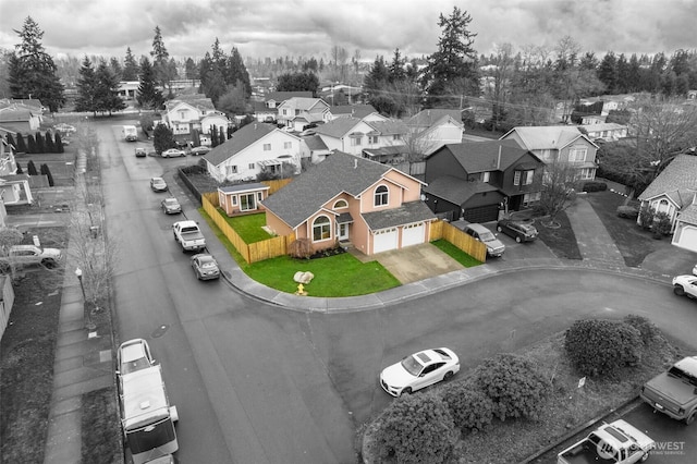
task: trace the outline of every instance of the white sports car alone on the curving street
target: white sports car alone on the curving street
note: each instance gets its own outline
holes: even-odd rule
[[[392,396],[401,396],[449,380],[458,371],[460,359],[452,350],[424,350],[384,368],[380,374],[380,386]]]

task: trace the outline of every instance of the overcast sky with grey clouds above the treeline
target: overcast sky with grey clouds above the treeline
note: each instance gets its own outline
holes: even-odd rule
[[[696,0],[0,0],[0,48],[14,49],[32,16],[54,58],[85,54],[123,59],[152,49],[159,26],[170,56],[201,58],[216,37],[246,59],[325,57],[332,45],[359,50],[363,61],[416,58],[436,50],[440,13],[472,16],[474,47],[553,49],[568,35],[582,51],[671,56],[696,48]]]

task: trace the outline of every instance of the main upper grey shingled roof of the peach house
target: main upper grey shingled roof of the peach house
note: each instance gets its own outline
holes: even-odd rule
[[[295,229],[329,199],[342,192],[358,196],[391,169],[379,162],[333,151],[262,204]]]

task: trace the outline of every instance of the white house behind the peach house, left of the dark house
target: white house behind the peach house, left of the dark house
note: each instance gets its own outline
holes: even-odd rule
[[[382,118],[382,117],[380,117]],[[402,121],[360,120],[357,118],[337,118],[316,127],[319,135],[330,150],[340,150],[354,156],[364,157],[364,150],[376,150],[383,147],[404,147],[404,139],[408,132]],[[406,148],[404,147],[404,150]],[[404,152],[402,150],[401,152]]]

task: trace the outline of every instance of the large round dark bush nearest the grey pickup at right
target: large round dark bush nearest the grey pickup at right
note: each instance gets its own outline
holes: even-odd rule
[[[614,377],[641,358],[641,333],[628,323],[611,320],[577,320],[566,330],[564,350],[584,376]]]

